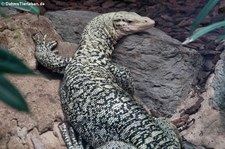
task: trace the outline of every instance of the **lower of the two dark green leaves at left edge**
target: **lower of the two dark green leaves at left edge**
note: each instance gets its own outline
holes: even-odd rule
[[[19,91],[0,75],[0,100],[19,111],[29,112],[28,105]]]

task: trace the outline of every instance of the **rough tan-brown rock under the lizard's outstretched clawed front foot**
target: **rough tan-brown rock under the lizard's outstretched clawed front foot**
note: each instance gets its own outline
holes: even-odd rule
[[[38,19],[31,14],[17,14],[9,18],[0,18],[0,45],[9,49],[32,69],[37,68],[37,62],[34,58],[35,46],[31,35],[38,32],[47,34],[48,40],[59,41],[59,47],[67,47],[66,50],[76,46],[63,43],[46,17],[40,16]],[[62,51],[59,49],[60,54]],[[55,138],[52,139],[55,143],[47,143],[41,140],[40,134],[49,134],[55,122],[64,118],[58,94],[60,80],[54,77],[46,78],[40,73],[36,76],[7,75],[7,78],[21,91],[31,114],[15,111],[0,103],[0,117],[4,120],[0,122],[0,148],[48,149],[52,144],[59,145],[60,135],[57,141]],[[63,147],[61,141],[56,148]]]

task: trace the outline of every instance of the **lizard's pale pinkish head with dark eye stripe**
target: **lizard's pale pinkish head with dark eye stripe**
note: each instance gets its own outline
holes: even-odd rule
[[[154,26],[155,21],[135,12],[119,11],[113,16],[113,27],[117,37],[140,32]]]

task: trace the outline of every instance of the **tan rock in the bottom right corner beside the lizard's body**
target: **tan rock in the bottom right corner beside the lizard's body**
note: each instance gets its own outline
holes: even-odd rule
[[[211,82],[210,78],[208,81]],[[210,105],[210,98],[212,97],[212,90],[207,88],[200,96],[204,98],[201,103],[201,108],[197,113],[190,116],[190,119],[195,119],[195,123],[187,130],[181,132],[182,138],[197,145],[204,146],[206,149],[224,149],[225,145],[225,114],[215,110]],[[177,114],[173,116],[179,117],[179,111],[187,109],[199,99],[198,96],[190,97],[181,103],[177,108]],[[189,148],[187,148],[189,149]],[[198,148],[196,148],[198,149]]]

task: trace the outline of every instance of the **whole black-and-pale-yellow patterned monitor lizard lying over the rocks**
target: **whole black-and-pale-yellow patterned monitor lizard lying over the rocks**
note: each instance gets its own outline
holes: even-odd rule
[[[121,37],[153,25],[148,17],[131,12],[99,15],[85,27],[79,48],[70,59],[51,52],[56,42],[45,45],[45,40],[33,36],[38,61],[64,73],[61,104],[73,127],[67,134],[61,125],[68,148],[85,148],[79,140],[99,149],[181,148],[174,126],[163,118],[151,117],[135,102],[129,71],[110,62]]]

